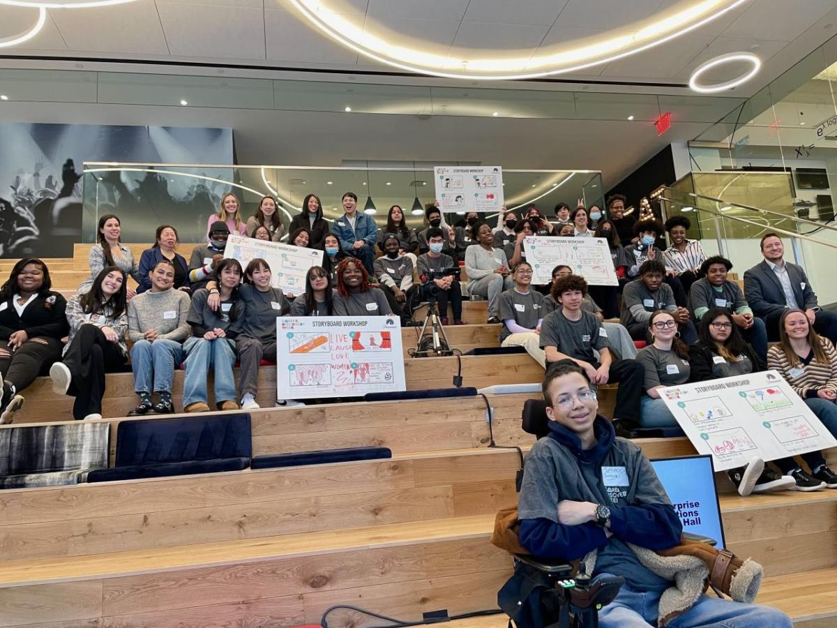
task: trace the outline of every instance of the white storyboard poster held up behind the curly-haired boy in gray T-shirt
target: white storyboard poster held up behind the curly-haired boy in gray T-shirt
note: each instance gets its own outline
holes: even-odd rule
[[[590,286],[619,286],[608,241],[604,238],[556,238],[532,235],[523,239],[526,261],[531,264],[531,282],[552,283],[552,269],[566,264]]]

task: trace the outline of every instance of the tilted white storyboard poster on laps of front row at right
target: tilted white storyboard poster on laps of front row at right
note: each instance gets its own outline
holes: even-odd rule
[[[716,471],[828,449],[837,440],[779,373],[750,373],[660,389],[660,397]]]

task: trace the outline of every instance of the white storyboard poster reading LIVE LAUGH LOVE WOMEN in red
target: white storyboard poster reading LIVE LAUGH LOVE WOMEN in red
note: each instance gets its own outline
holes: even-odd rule
[[[276,319],[278,399],[406,390],[398,317]]]

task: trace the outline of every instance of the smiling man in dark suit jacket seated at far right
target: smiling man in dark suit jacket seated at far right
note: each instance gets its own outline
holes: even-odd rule
[[[753,313],[763,319],[768,339],[778,340],[779,318],[792,307],[805,311],[817,333],[837,340],[837,314],[820,309],[802,266],[784,260],[782,239],[767,234],[761,246],[764,261],[744,273],[744,296]]]

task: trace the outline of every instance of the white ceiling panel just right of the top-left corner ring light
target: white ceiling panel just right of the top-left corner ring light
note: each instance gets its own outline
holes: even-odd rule
[[[70,49],[94,52],[168,54],[151,0],[95,9],[49,12]]]

